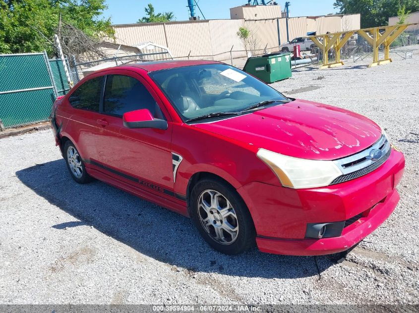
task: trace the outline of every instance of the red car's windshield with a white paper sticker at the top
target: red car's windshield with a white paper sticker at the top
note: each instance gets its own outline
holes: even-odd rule
[[[261,101],[287,100],[277,90],[227,64],[185,66],[149,75],[184,121],[243,111]]]

